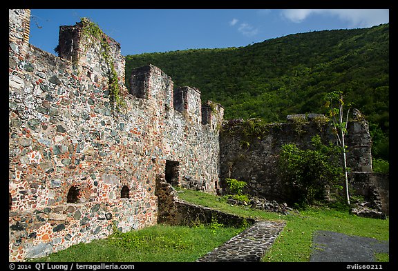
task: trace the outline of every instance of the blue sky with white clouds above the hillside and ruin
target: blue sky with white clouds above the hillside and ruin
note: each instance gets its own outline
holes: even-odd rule
[[[87,17],[122,54],[228,48],[301,32],[368,28],[389,22],[388,9],[32,9],[30,43],[53,53],[59,26]]]

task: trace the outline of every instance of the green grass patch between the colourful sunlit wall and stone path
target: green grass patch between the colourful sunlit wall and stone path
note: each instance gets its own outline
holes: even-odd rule
[[[107,239],[80,243],[32,261],[59,262],[193,262],[222,245],[243,228],[219,225],[155,225],[131,232],[116,232]]]

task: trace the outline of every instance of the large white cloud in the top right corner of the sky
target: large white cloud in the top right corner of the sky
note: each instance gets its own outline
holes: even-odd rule
[[[350,27],[371,27],[379,25],[380,23],[389,22],[389,10],[367,10],[367,9],[294,9],[283,10],[282,16],[293,21],[294,23],[301,23],[312,14],[337,16],[342,21],[348,21]]]

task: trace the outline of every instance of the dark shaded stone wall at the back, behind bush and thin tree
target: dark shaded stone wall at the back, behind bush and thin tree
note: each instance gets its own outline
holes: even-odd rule
[[[296,143],[307,148],[311,137],[319,134],[324,143],[335,142],[331,126],[322,121],[320,114],[297,114],[287,116],[286,123],[270,123],[262,138],[247,137],[243,132],[233,132],[239,120],[225,121],[220,132],[220,190],[226,191],[226,178],[247,182],[246,193],[268,200],[289,202],[291,189],[285,186],[276,172],[281,146]],[[294,118],[301,119],[294,121]],[[369,196],[377,194],[381,210],[389,214],[388,176],[372,173],[372,141],[367,121],[354,120],[348,123],[346,144],[347,165],[351,168],[349,182],[351,195],[357,194],[372,201]],[[249,144],[245,144],[245,142]]]

